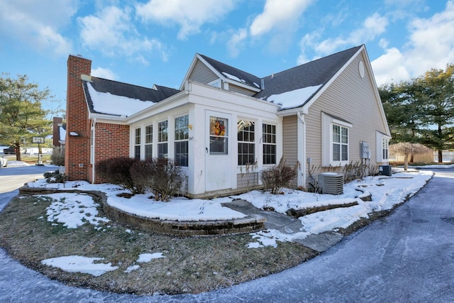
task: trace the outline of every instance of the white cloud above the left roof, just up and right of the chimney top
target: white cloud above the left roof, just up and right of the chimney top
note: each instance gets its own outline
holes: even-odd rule
[[[85,46],[104,55],[126,55],[148,64],[143,54],[159,53],[167,60],[167,53],[157,39],[141,37],[131,22],[131,9],[108,6],[96,14],[78,19],[80,36]]]

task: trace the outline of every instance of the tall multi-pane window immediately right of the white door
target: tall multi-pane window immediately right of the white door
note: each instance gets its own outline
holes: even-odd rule
[[[238,121],[238,165],[251,165],[255,162],[254,124],[253,121]]]

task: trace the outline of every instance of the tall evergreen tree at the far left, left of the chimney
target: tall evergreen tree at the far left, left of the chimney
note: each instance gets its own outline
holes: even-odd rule
[[[0,141],[16,148],[16,160],[21,160],[21,146],[33,136],[51,133],[52,121],[45,119],[48,111],[42,102],[50,98],[49,89],[40,90],[38,84],[28,83],[26,75],[11,79],[0,77]]]

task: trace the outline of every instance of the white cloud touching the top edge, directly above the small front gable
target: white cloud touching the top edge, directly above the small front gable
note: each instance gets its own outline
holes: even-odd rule
[[[214,23],[232,11],[236,0],[150,0],[135,6],[143,21],[156,21],[165,25],[176,23],[180,29],[177,38],[199,33],[204,23]]]

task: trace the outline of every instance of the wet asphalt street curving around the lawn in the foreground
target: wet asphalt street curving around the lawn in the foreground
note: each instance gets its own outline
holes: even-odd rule
[[[0,249],[0,302],[453,302],[454,170],[434,171],[387,218],[275,275],[201,294],[112,294],[62,285]],[[0,210],[18,192],[6,192],[4,178],[11,176],[0,177]]]

